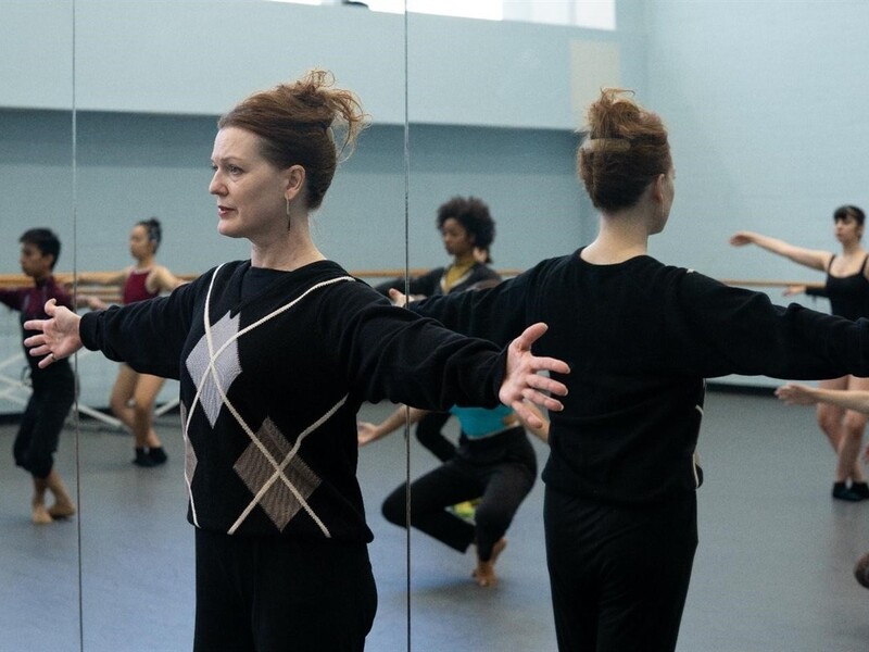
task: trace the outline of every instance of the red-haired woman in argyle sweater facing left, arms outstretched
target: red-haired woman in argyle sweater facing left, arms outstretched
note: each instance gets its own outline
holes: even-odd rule
[[[363,401],[501,400],[534,426],[526,400],[561,409],[544,392],[565,386],[538,372],[568,366],[530,351],[545,325],[506,350],[459,336],[396,310],[316,247],[310,215],[364,120],[325,71],[242,100],[217,123],[209,191],[218,231],[247,239],[250,260],[168,297],[80,317],[50,303],[50,319],[28,322],[42,366],[87,346],[180,380],[196,652],[364,648],[377,592],[356,478]]]

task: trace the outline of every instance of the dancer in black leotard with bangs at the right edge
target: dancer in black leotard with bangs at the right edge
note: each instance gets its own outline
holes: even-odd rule
[[[730,243],[736,247],[756,244],[811,269],[826,272],[827,281],[822,288],[795,285],[789,287],[784,293],[805,292],[814,297],[827,297],[834,315],[858,319],[869,317],[869,252],[861,244],[865,221],[866,215],[857,206],[844,205],[835,210],[833,224],[835,238],[842,246],[841,254],[796,247],[754,231],[739,231],[731,237]],[[869,378],[844,376],[821,380],[820,387],[866,391],[869,390]],[[833,498],[852,502],[869,499],[869,485],[859,461],[862,435],[869,416],[857,410],[819,402],[817,418],[818,426],[836,453]]]

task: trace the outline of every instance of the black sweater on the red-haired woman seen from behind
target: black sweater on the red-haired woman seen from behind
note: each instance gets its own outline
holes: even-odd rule
[[[543,472],[561,491],[618,503],[694,491],[705,378],[869,375],[869,322],[773,305],[647,255],[592,265],[579,253],[490,290],[412,304],[496,342],[550,325],[534,353],[571,369],[559,378],[569,393],[550,414]]]

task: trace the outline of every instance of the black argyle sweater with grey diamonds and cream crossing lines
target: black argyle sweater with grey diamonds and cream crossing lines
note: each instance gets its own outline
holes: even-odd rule
[[[391,306],[332,262],[277,273],[243,297],[249,269],[227,263],[168,297],[86,314],[81,339],[180,379],[193,525],[369,541],[355,477],[361,403],[491,406],[504,355]]]

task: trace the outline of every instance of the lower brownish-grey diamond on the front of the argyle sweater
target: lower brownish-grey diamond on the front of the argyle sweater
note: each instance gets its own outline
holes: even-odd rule
[[[292,444],[268,418],[263,422],[256,438],[278,464],[284,462],[292,449]],[[275,466],[253,442],[244,449],[234,468],[254,496],[276,473]],[[307,500],[320,484],[319,477],[298,454],[284,468],[284,475],[304,500]],[[260,500],[260,505],[279,530],[284,530],[302,509],[299,499],[280,477],[268,487]]]

